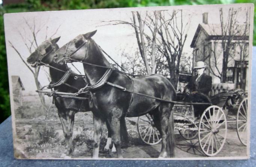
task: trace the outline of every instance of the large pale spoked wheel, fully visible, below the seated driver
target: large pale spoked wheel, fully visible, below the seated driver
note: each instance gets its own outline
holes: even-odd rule
[[[217,155],[227,136],[227,120],[223,110],[212,105],[203,112],[198,129],[200,147],[208,156]]]

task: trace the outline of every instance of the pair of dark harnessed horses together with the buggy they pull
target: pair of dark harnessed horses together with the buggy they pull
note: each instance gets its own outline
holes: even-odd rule
[[[208,156],[216,155],[223,147],[227,122],[236,122],[238,137],[242,144],[247,144],[244,139],[247,98],[242,90],[226,90],[211,96],[208,101],[187,101],[186,96],[176,95],[170,81],[161,75],[132,78],[114,68],[105,58],[105,52],[91,39],[95,33],[78,35],[61,48],[56,44],[59,38],[45,41],[27,59],[32,66],[50,68],[53,83],[47,89],[54,91],[41,89],[38,92],[54,96],[69,155],[74,150],[74,115],[79,111],[93,112],[93,158],[99,155],[104,122],[108,136],[113,137],[117,157],[122,158],[120,141],[122,135],[126,136],[122,134],[122,129],[126,130],[125,117],[139,116],[138,131],[143,141],[148,144],[161,141],[161,158],[174,156],[174,129],[188,140],[198,136],[200,147]],[[66,63],[72,62],[83,63],[85,76],[74,75],[70,71]],[[236,119],[227,120],[228,108],[236,106]],[[174,112],[170,112],[172,109]]]

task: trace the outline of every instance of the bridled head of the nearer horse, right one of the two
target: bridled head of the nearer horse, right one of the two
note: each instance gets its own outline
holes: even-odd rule
[[[66,43],[54,53],[54,62],[62,65],[64,62],[83,61],[86,58],[87,45],[92,41],[91,37],[97,30],[86,34],[80,34]]]

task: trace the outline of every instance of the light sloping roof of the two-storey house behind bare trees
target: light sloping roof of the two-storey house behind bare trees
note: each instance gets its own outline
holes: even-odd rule
[[[245,25],[244,24],[240,24],[236,27],[236,29],[239,30],[239,32],[241,32],[241,34],[244,32],[245,30]],[[221,25],[220,24],[198,24],[198,27],[196,29],[196,33],[192,39],[192,42],[190,44],[191,48],[195,47],[196,44],[196,40],[197,37],[200,33],[200,31],[203,30],[203,32],[206,33],[206,35],[208,36],[208,39],[220,39],[221,38]],[[242,35],[236,35],[235,38],[241,39],[241,38],[246,38],[247,40],[249,39],[249,29],[247,28],[247,32],[246,32],[247,36],[242,36]],[[228,35],[227,35],[228,36]]]

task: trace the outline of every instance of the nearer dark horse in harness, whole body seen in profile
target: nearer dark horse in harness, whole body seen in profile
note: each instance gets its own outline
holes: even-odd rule
[[[93,158],[98,157],[101,127],[104,121],[110,124],[117,157],[122,158],[119,120],[122,117],[137,117],[146,113],[151,115],[162,137],[159,157],[173,157],[175,143],[172,107],[174,103],[149,97],[154,96],[166,101],[175,100],[176,93],[172,84],[162,75],[130,78],[117,69],[111,68],[101,49],[91,39],[95,33],[96,31],[78,35],[57,50],[54,56],[54,61],[62,65],[65,60],[83,62],[89,87],[94,87],[90,89],[93,99],[92,111],[95,116]]]

